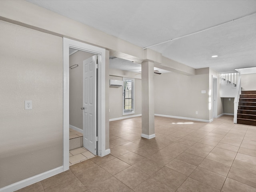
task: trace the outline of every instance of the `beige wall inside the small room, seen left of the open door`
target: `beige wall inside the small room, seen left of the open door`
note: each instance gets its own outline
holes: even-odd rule
[[[78,67],[69,70],[69,124],[83,129],[83,61],[94,54],[78,51],[69,57],[69,66]]]

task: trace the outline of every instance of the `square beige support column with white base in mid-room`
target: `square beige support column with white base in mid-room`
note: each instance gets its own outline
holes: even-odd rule
[[[155,135],[154,120],[154,63],[142,62],[142,134],[151,139]]]

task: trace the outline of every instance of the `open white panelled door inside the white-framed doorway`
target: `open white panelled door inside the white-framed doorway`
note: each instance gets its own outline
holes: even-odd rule
[[[97,154],[97,56],[83,61],[84,147]]]

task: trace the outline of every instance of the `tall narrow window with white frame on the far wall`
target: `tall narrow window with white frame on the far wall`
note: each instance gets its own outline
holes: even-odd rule
[[[123,115],[134,114],[134,79],[123,78]]]

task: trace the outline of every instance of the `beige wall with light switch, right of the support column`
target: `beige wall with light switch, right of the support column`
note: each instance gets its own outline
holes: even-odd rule
[[[155,114],[209,120],[208,70],[192,76],[164,73],[155,75],[154,82]]]

